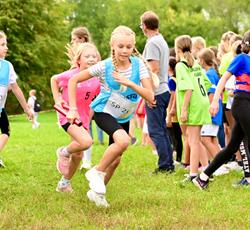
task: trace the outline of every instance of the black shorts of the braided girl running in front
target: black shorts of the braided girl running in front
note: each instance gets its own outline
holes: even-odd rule
[[[95,112],[94,120],[99,128],[109,135],[109,145],[114,143],[113,134],[118,129],[124,129],[127,133],[129,133],[129,121],[125,123],[118,123],[117,120],[108,113]]]

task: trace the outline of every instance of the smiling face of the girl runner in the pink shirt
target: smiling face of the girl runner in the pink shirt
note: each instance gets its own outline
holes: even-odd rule
[[[88,48],[82,53],[78,64],[80,66],[80,69],[83,70],[96,64],[98,62],[98,59],[99,57],[96,50]]]

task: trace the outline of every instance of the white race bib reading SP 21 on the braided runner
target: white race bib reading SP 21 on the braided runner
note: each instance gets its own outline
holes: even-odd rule
[[[135,112],[137,104],[137,102],[132,102],[126,97],[113,92],[111,93],[103,112],[112,115],[114,118],[124,119]]]

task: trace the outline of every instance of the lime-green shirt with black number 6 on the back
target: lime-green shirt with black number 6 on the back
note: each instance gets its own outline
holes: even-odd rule
[[[207,76],[201,66],[197,63],[193,67],[188,67],[185,60],[176,65],[176,104],[177,117],[180,124],[185,125],[205,125],[211,124],[209,113],[209,99],[207,89],[211,86]],[[185,123],[180,121],[184,95],[187,90],[192,90],[188,106],[188,120]]]

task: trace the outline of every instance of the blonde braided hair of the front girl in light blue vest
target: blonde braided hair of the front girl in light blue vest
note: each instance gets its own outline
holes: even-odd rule
[[[133,30],[131,30],[129,27],[127,26],[118,26],[114,29],[114,31],[111,34],[111,38],[110,38],[110,45],[113,44],[114,40],[117,38],[117,35],[125,35],[125,36],[131,36],[132,39],[134,40],[134,45],[135,45],[135,33]],[[153,85],[155,88],[159,87],[159,78],[156,74],[154,74],[151,71],[150,66],[148,65],[147,61],[142,57],[142,55],[139,53],[139,51],[136,49],[136,47],[134,46],[133,52],[132,52],[132,56],[136,56],[138,58],[140,58],[143,63],[145,64],[145,66],[148,69],[148,73],[150,75],[150,77],[153,80]],[[115,50],[112,49],[111,50],[111,59],[112,59],[112,64],[114,66],[115,71],[118,71],[118,64],[117,64],[117,60],[115,58]],[[124,90],[124,89],[123,89]]]

